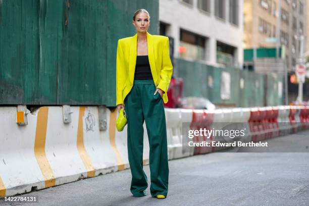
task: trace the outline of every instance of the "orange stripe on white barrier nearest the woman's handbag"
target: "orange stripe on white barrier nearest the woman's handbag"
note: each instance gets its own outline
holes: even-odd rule
[[[109,128],[109,134],[110,134],[110,142],[111,146],[116,153],[116,159],[117,159],[117,165],[118,165],[118,170],[124,170],[124,164],[121,159],[120,153],[116,147],[116,117],[117,117],[117,110],[114,112],[111,112],[111,117],[110,117],[110,128]]]

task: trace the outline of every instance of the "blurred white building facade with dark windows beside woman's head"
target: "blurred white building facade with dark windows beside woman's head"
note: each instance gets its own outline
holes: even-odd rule
[[[160,34],[175,57],[242,68],[243,0],[160,0]]]

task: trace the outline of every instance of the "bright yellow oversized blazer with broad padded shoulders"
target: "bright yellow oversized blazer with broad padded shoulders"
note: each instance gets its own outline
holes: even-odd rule
[[[147,49],[150,70],[157,88],[162,89],[163,102],[168,102],[167,90],[170,85],[173,66],[170,59],[169,38],[151,35],[147,32]],[[137,33],[118,40],[116,61],[116,105],[124,104],[134,81],[137,56]],[[155,92],[155,91],[153,91]]]

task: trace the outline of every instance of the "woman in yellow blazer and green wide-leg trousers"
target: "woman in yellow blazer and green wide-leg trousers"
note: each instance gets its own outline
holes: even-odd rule
[[[128,122],[130,190],[135,197],[146,195],[147,176],[143,171],[145,121],[150,148],[150,194],[165,198],[169,166],[163,101],[168,102],[167,89],[173,73],[169,39],[147,32],[150,16],[144,9],[134,13],[132,24],[137,33],[118,40],[116,65],[117,109],[125,109]]]

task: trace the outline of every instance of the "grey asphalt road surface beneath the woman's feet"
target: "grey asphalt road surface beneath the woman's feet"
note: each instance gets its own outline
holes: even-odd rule
[[[21,196],[37,203],[0,205],[309,205],[309,131],[268,140],[302,152],[216,152],[169,162],[169,193],[132,197],[130,170]],[[258,150],[256,150],[258,151]],[[306,151],[306,152],[305,152]],[[144,167],[150,185],[149,166]]]

